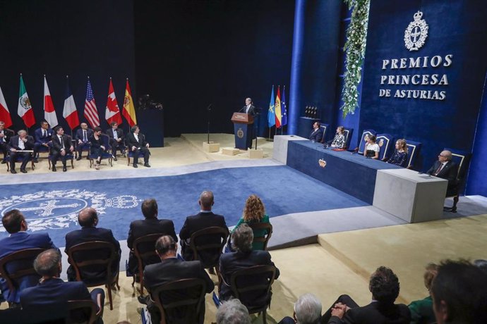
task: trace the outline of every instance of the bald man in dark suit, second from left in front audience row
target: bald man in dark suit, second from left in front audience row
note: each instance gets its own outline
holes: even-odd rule
[[[95,208],[92,207],[86,207],[80,211],[78,214],[78,223],[81,226],[80,230],[73,230],[72,232],[68,232],[68,234],[66,234],[66,249],[64,250],[66,254],[68,253],[68,249],[80,243],[93,241],[112,243],[114,244],[115,250],[119,252],[118,258],[116,258],[116,260],[112,263],[112,275],[115,277],[119,273],[121,250],[120,243],[115,239],[114,235],[112,234],[112,230],[96,227],[98,224],[98,213],[95,211]],[[79,252],[75,257],[76,261],[83,261],[87,258],[106,258],[107,252]],[[73,261],[68,260],[68,262],[72,263]],[[67,273],[69,281],[76,280],[76,272],[73,266],[69,266]],[[92,268],[81,269],[81,277],[83,278],[83,281],[87,283],[90,282],[91,278],[95,280],[96,278],[104,276],[106,276],[106,268],[103,266],[100,267],[95,265],[92,266]]]

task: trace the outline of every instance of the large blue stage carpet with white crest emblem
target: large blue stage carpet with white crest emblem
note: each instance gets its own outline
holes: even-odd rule
[[[205,189],[215,193],[213,211],[224,215],[229,226],[241,217],[250,194],[263,199],[270,217],[367,206],[287,166],[265,166],[165,177],[1,185],[0,210],[3,215],[20,208],[29,230],[47,230],[54,244],[64,247],[64,236],[79,228],[77,213],[85,206],[97,208],[99,226],[112,229],[116,239],[121,240],[126,239],[131,221],[143,218],[141,201],[154,197],[159,204],[159,218],[172,219],[179,232],[186,216],[198,213],[198,197]],[[0,226],[0,237],[6,235]]]

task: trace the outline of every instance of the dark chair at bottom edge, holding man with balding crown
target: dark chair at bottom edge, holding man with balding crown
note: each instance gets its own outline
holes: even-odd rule
[[[150,296],[161,313],[161,324],[200,323],[205,313],[206,282],[181,279],[155,288]]]

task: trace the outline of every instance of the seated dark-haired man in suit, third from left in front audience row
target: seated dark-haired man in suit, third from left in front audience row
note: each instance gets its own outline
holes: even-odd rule
[[[178,242],[172,220],[157,219],[158,208],[155,199],[145,199],[141,208],[145,219],[133,220],[130,224],[130,230],[128,230],[127,246],[131,250],[130,254],[128,254],[128,270],[131,273],[137,273],[138,263],[136,255],[133,253],[133,242],[139,237],[160,233],[162,235],[170,235],[175,242]],[[149,250],[154,251],[154,244],[151,244],[150,247],[139,247],[139,250],[142,253]],[[156,258],[155,260],[145,261],[145,264],[157,263],[159,261],[160,259]]]

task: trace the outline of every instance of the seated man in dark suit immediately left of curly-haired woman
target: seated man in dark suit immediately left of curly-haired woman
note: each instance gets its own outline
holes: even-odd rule
[[[181,239],[181,253],[185,260],[194,259],[193,251],[189,247],[189,244],[191,243],[191,235],[194,232],[213,226],[228,228],[227,223],[225,223],[225,218],[211,211],[213,204],[215,204],[212,192],[202,192],[198,204],[201,207],[200,213],[186,217],[183,228],[181,228],[181,232],[179,232],[179,238]],[[212,238],[207,240],[202,239],[201,241],[205,244],[217,243],[217,241],[214,241]],[[201,241],[200,243],[203,243]]]

